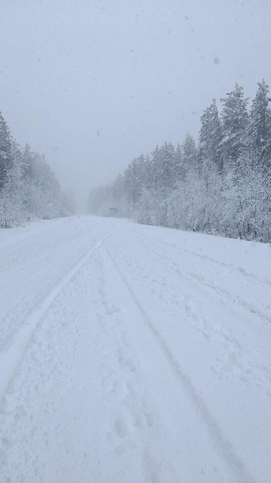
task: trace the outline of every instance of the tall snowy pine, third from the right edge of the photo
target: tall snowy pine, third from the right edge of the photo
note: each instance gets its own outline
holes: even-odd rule
[[[223,173],[223,160],[221,155],[221,124],[218,117],[216,100],[213,99],[202,116],[199,131],[199,165],[211,163],[216,166],[219,173]],[[200,166],[199,166],[200,167]]]

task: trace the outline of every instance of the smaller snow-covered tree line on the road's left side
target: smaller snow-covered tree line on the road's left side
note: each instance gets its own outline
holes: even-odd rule
[[[73,212],[72,193],[61,191],[43,155],[20,148],[0,111],[0,228]]]

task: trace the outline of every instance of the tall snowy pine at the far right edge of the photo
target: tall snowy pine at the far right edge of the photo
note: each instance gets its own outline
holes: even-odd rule
[[[258,91],[252,101],[249,126],[251,158],[256,158],[265,170],[271,167],[271,109],[269,88],[264,79],[258,83]]]

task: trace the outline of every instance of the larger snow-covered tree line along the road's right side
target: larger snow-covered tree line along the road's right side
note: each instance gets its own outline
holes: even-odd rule
[[[249,109],[238,84],[204,111],[196,144],[164,143],[92,189],[88,210],[139,223],[271,240],[271,109],[265,81]]]

